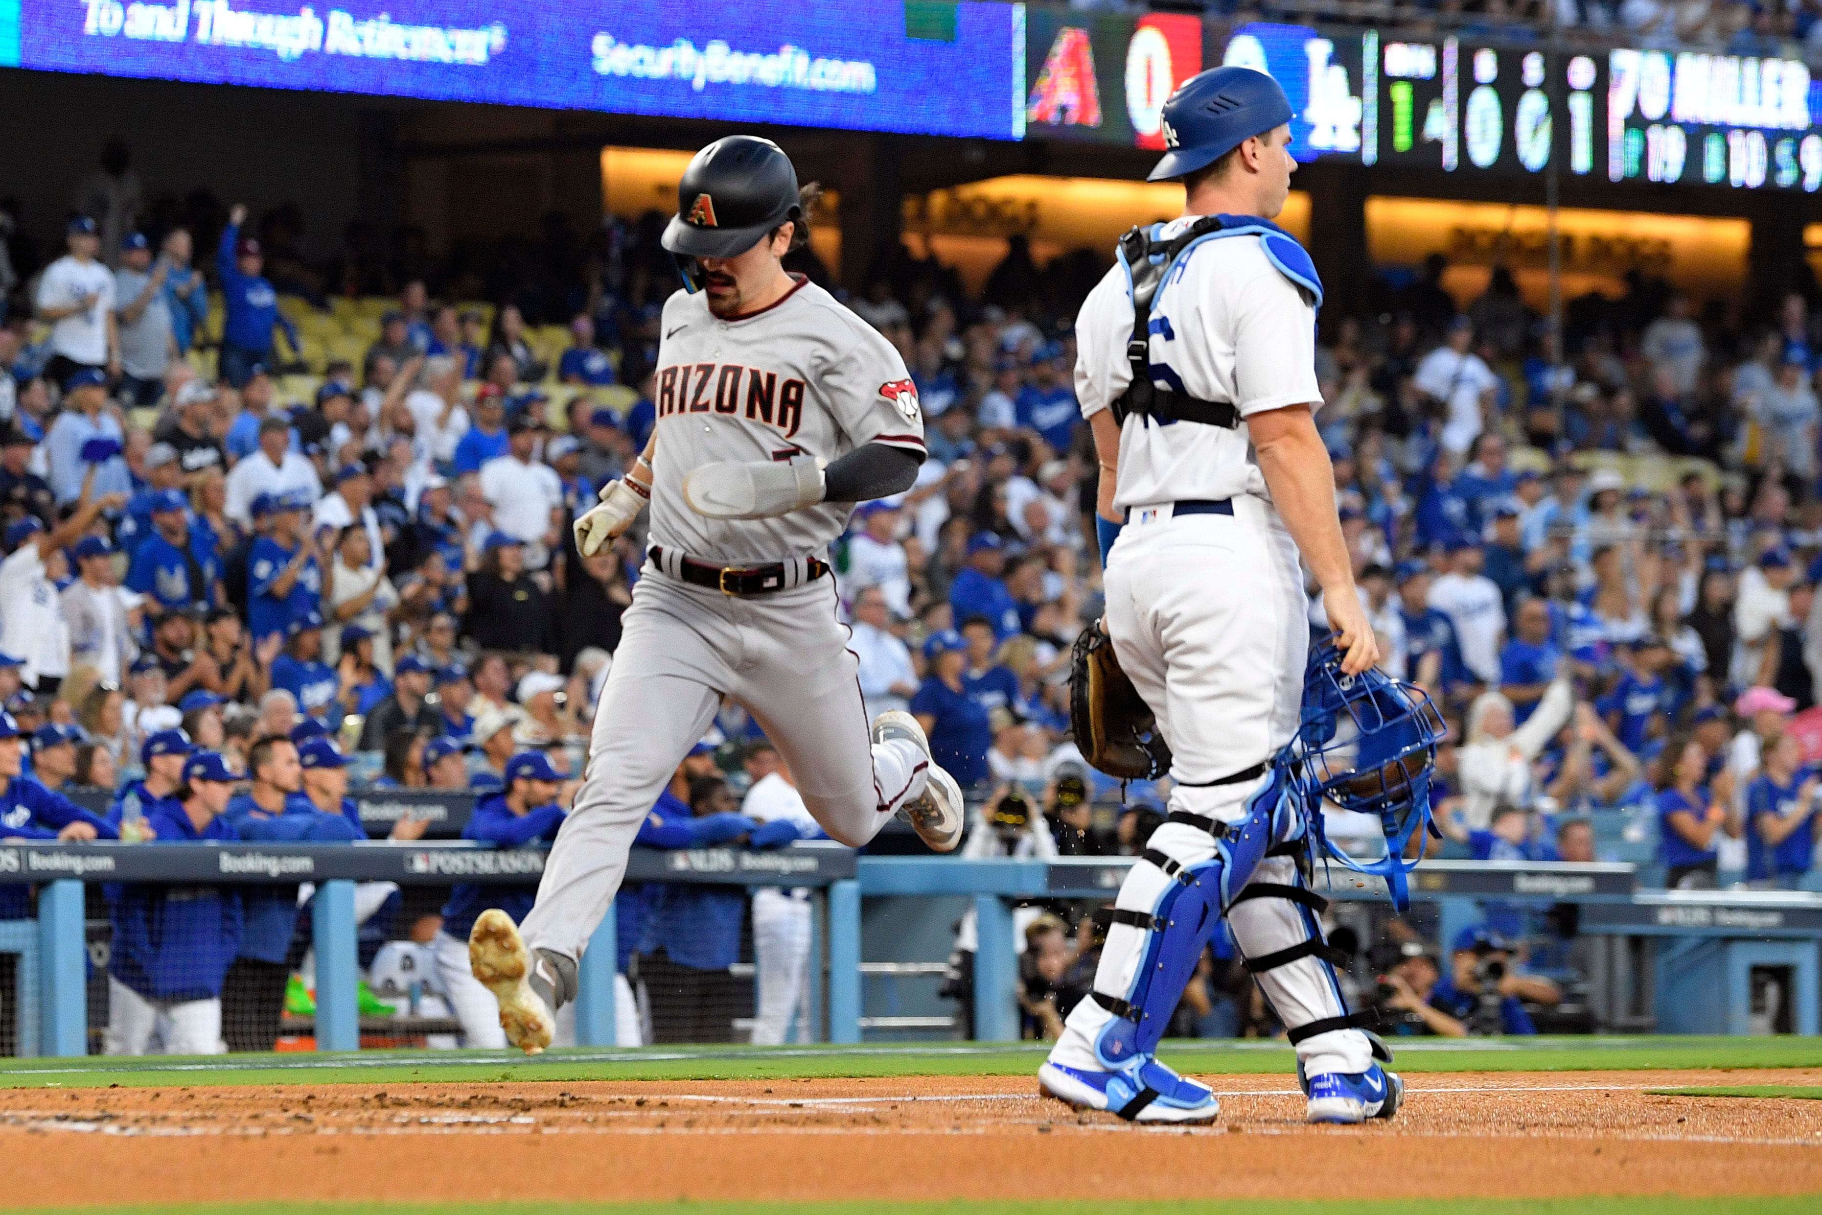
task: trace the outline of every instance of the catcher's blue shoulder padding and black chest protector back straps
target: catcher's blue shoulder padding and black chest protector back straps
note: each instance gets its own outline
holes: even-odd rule
[[[1131,383],[1111,404],[1113,421],[1124,424],[1130,414],[1141,414],[1157,423],[1199,423],[1233,430],[1241,424],[1239,410],[1226,401],[1201,401],[1179,388],[1153,384],[1152,366],[1152,301],[1157,299],[1173,273],[1188,260],[1195,246],[1228,237],[1257,237],[1266,260],[1279,273],[1308,291],[1315,306],[1323,306],[1323,281],[1315,262],[1297,239],[1268,219],[1257,215],[1204,215],[1186,230],[1162,240],[1164,224],[1131,228],[1115,250],[1121,270],[1126,271],[1126,293],[1133,302],[1133,332],[1126,342],[1126,361],[1131,364]],[[1159,321],[1157,324],[1162,324]],[[1157,368],[1168,373],[1168,368]],[[1175,379],[1172,375],[1172,379]]]

